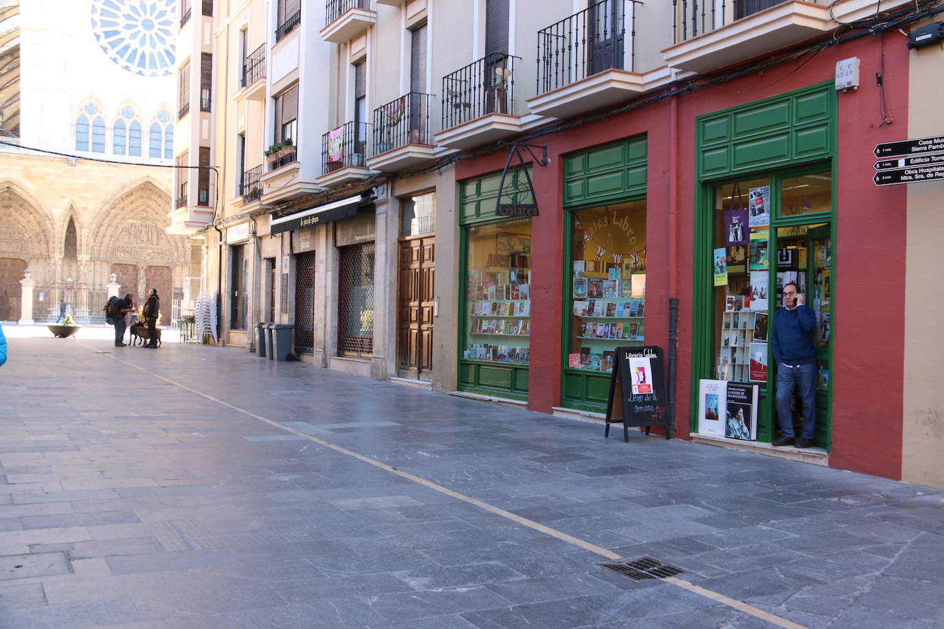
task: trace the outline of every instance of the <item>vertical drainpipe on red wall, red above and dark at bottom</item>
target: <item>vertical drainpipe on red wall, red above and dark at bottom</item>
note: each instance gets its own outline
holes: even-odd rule
[[[676,70],[672,70],[675,80]],[[666,437],[675,437],[676,380],[679,360],[679,97],[672,96],[669,108],[669,170],[668,170],[668,360]]]

